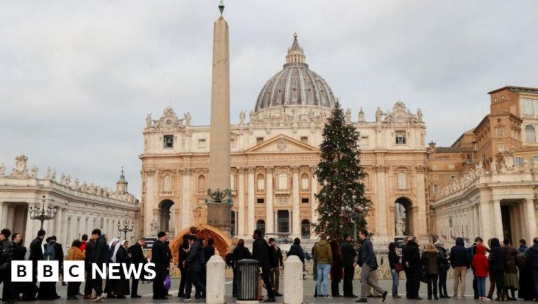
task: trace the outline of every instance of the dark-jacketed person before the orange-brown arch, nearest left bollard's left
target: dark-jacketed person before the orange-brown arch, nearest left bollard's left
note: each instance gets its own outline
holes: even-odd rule
[[[187,268],[187,282],[185,297],[181,301],[190,301],[190,292],[192,291],[192,285],[203,294],[206,295],[206,286],[200,282],[201,269],[203,264],[206,263],[206,257],[203,254],[203,248],[196,236],[189,236],[190,253],[183,261],[183,267]]]

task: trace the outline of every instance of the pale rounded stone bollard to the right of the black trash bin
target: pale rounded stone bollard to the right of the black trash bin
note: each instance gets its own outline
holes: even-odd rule
[[[284,262],[284,304],[303,303],[303,263],[298,256]]]

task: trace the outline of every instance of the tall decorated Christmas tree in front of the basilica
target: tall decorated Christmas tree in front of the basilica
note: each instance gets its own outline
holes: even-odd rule
[[[315,174],[323,188],[316,195],[319,206],[315,232],[331,238],[353,235],[355,228],[366,225],[364,217],[370,200],[364,198],[359,132],[346,123],[339,102],[325,124],[319,148],[321,159]]]

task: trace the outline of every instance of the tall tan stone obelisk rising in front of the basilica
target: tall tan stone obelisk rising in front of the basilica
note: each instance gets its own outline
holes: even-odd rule
[[[230,51],[228,23],[221,15],[213,28],[213,75],[208,178],[208,224],[230,236]]]

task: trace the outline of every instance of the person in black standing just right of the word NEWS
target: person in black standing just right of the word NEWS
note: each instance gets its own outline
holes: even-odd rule
[[[164,231],[157,234],[157,242],[151,249],[151,263],[155,264],[155,279],[153,280],[153,299],[159,300],[166,298],[166,289],[164,289],[164,279],[170,271],[170,257],[168,249],[164,242],[166,233]]]

